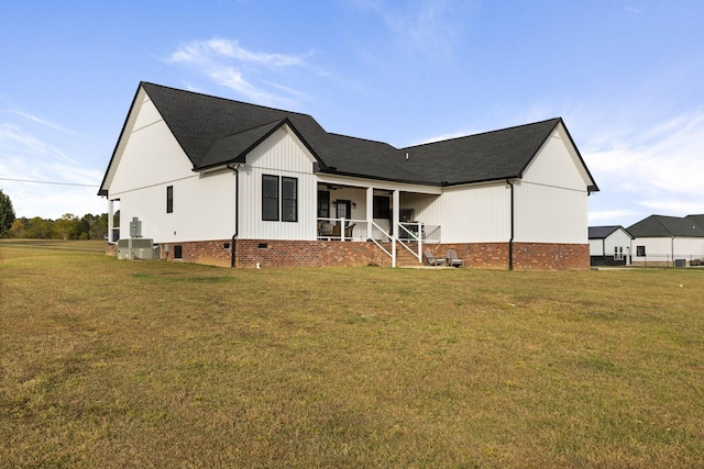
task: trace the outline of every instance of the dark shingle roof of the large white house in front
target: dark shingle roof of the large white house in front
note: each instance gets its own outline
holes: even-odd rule
[[[307,114],[148,82],[140,86],[194,170],[243,161],[246,153],[286,123],[318,159],[322,172],[437,186],[520,178],[562,123],[558,118],[398,149],[383,142],[328,133]],[[590,190],[598,189],[594,185]]]

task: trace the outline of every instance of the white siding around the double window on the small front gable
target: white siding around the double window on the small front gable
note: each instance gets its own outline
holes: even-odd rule
[[[317,237],[315,158],[286,125],[246,155],[240,169],[240,239],[299,239]],[[298,221],[262,221],[262,176],[298,180]],[[279,193],[280,196],[280,193]]]

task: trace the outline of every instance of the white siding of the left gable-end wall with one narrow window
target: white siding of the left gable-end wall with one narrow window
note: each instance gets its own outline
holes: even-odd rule
[[[128,120],[129,138],[109,181],[109,198],[120,200],[120,237],[130,221],[142,221],[142,236],[155,243],[227,239],[234,231],[232,171],[198,175],[145,93],[138,114]],[[166,213],[166,188],[173,186],[174,210]],[[232,214],[232,216],[223,216]]]

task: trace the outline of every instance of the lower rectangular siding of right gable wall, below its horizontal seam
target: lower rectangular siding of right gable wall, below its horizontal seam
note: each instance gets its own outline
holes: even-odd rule
[[[514,241],[587,244],[586,191],[516,183]]]

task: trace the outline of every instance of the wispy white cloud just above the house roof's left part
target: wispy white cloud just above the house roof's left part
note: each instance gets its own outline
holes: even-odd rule
[[[278,85],[276,78],[292,67],[307,67],[306,55],[254,52],[237,40],[215,37],[182,45],[167,62],[205,74],[216,83],[261,104],[290,107],[305,97]]]

